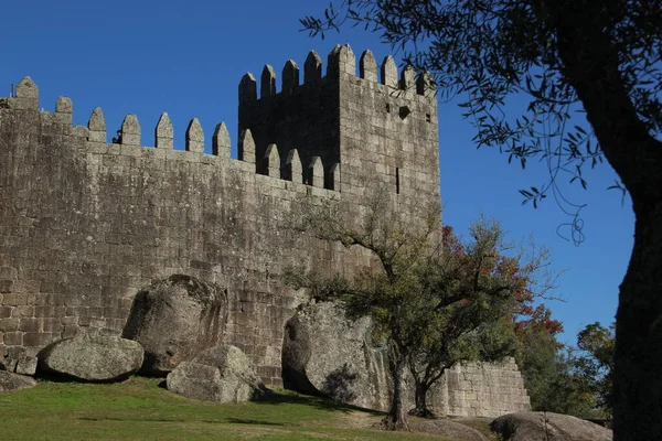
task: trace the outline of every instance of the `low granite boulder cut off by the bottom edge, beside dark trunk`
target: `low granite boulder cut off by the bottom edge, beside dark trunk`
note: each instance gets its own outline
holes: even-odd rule
[[[503,441],[611,441],[611,430],[596,423],[553,412],[519,412],[490,424]]]

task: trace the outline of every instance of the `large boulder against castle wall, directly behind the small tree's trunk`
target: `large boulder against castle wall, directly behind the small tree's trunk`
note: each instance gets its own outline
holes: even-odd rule
[[[386,351],[371,341],[370,319],[348,320],[331,302],[299,308],[285,326],[282,381],[301,394],[387,410]]]

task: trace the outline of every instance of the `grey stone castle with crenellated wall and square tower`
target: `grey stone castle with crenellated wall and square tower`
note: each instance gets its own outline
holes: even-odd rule
[[[226,342],[265,383],[281,385],[284,324],[300,302],[278,280],[285,266],[305,260],[345,275],[370,265],[364,254],[288,229],[293,204],[344,200],[360,215],[377,184],[404,215],[413,201],[440,198],[434,87],[412,67],[398,75],[391,56],[377,69],[365,51],[357,76],[344,45],[329,54],[325,75],[311,52],[302,83],[288,61],[280,92],[271,66],[259,85],[246,74],[236,160],[224,123],[212,154],[196,119],[185,151],[173,150],[167,114],[153,148],[134,115],[121,144],[107,143],[102,109],[72,127],[71,99],[40,111],[38,86],[21,80],[14,97],[0,99],[0,364],[33,374],[51,342],[119,335],[141,288],[185,273],[227,289]]]

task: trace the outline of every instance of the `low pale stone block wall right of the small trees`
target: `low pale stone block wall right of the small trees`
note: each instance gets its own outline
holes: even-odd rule
[[[514,358],[458,365],[445,374],[445,415],[490,417],[530,411],[531,401]]]

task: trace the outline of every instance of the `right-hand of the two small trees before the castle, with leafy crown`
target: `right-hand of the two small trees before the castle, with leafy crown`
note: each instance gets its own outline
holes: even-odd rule
[[[515,276],[499,224],[484,218],[470,228],[473,241],[462,244],[444,227],[441,256],[420,267],[423,294],[431,308],[420,312],[418,344],[410,348],[409,372],[415,383],[412,415],[435,416],[427,407],[430,387],[444,372],[462,362],[500,361],[512,355],[515,336],[504,320],[516,308],[516,293],[526,283]]]

